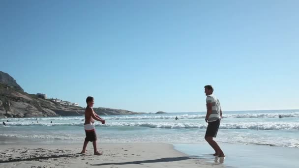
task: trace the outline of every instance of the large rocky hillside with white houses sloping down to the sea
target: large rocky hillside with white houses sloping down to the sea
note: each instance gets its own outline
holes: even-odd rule
[[[24,92],[10,75],[0,71],[0,118],[83,115],[85,108],[66,106]],[[94,108],[99,115],[139,114],[126,110]]]

